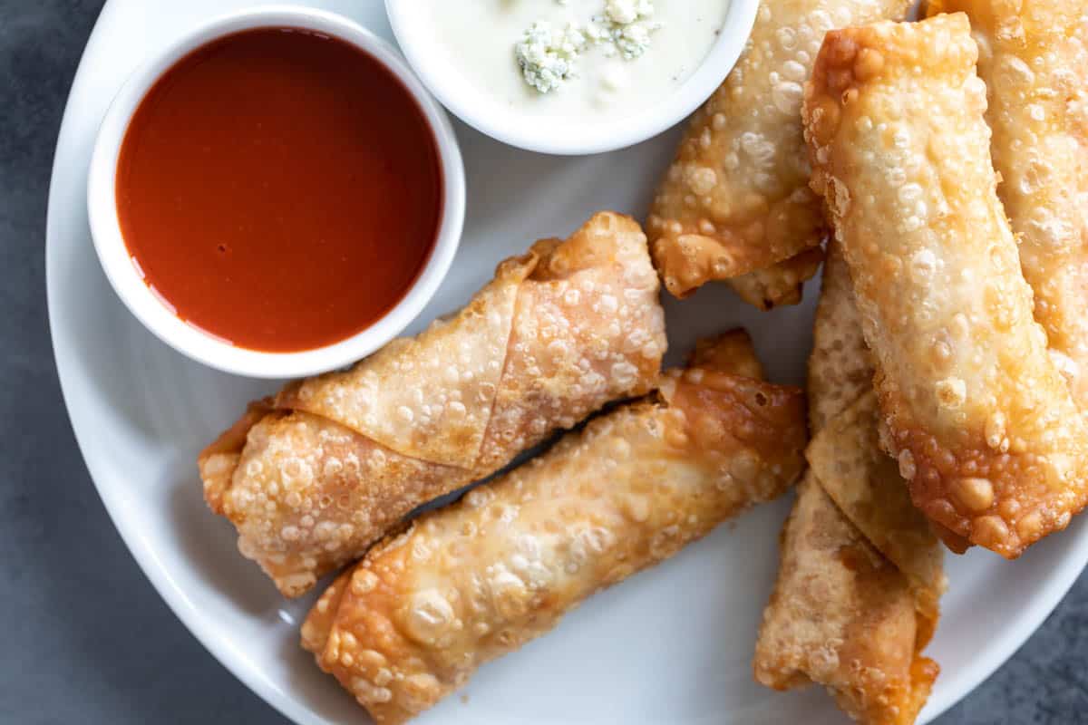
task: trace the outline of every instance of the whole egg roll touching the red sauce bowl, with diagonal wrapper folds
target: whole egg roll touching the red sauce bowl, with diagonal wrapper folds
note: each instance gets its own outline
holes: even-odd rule
[[[650,391],[666,349],[658,289],[639,225],[597,214],[499,264],[418,337],[251,407],[201,454],[205,497],[300,595],[418,505]]]

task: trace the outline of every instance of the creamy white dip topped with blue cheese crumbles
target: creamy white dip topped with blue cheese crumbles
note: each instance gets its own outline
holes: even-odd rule
[[[729,0],[413,0],[421,41],[463,80],[539,117],[626,117],[714,47]],[[647,12],[648,11],[648,12]]]

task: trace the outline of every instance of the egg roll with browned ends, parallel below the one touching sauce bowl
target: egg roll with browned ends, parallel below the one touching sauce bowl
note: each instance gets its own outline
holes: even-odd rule
[[[593,592],[677,553],[803,468],[804,396],[742,333],[460,502],[372,549],[302,643],[379,723],[403,723]]]

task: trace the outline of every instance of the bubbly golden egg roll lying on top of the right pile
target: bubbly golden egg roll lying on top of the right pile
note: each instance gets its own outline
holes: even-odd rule
[[[1088,427],[1033,318],[966,15],[828,34],[805,98],[915,504],[1015,558],[1086,502]]]

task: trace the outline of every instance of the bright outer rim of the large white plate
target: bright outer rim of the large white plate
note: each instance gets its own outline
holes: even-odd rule
[[[73,386],[76,385],[76,382],[73,377],[75,373],[71,368],[72,363],[69,361],[70,343],[66,340],[62,340],[57,334],[58,311],[62,307],[59,301],[61,293],[55,287],[58,275],[53,271],[53,267],[60,264],[59,261],[55,261],[58,254],[55,250],[61,245],[57,239],[62,234],[60,228],[71,225],[70,222],[65,223],[60,220],[64,211],[60,210],[59,197],[62,196],[61,189],[73,183],[73,177],[76,178],[75,183],[78,183],[78,170],[82,168],[81,165],[76,164],[74,166],[76,171],[73,171],[73,165],[67,163],[67,154],[65,154],[65,141],[73,136],[74,118],[81,113],[81,110],[74,105],[73,97],[76,89],[86,83],[87,59],[92,54],[92,51],[97,50],[99,45],[107,40],[103,30],[107,23],[103,21],[112,18],[112,15],[118,12],[116,9],[121,4],[115,0],[106,0],[83,49],[65,100],[50,172],[46,212],[46,243],[44,250],[46,302],[53,364],[57,368],[64,410],[72,426],[79,455],[110,516],[110,521],[121,535],[125,547],[136,560],[140,571],[185,628],[227,672],[257,697],[279,711],[284,717],[299,725],[329,725],[327,721],[308,710],[298,698],[293,697],[289,692],[276,687],[271,682],[263,679],[259,671],[249,664],[248,658],[232,647],[228,641],[219,640],[213,637],[213,634],[205,624],[205,620],[199,614],[195,602],[188,599],[185,591],[171,577],[170,573],[158,564],[154,551],[139,536],[128,518],[122,514],[124,504],[119,493],[122,487],[103,486],[100,483],[113,476],[106,470],[100,454],[88,453],[94,448],[85,445],[88,438],[87,425],[82,424],[81,421],[83,421],[86,412],[78,410],[79,405],[74,402],[76,396],[73,392]],[[1088,513],[1086,513],[1086,516],[1088,516]],[[1064,599],[1080,573],[1088,565],[1088,525],[1070,527],[1070,529],[1062,533],[1062,537],[1066,539],[1064,543],[1066,543],[1067,552],[1060,558],[1061,565],[1055,567],[1051,573],[1046,585],[1031,597],[1029,611],[1017,620],[1016,626],[1004,629],[992,638],[991,641],[993,643],[990,647],[990,658],[985,661],[977,661],[973,666],[959,674],[956,678],[959,687],[954,691],[948,690],[948,695],[936,700],[930,698],[923,713],[924,718],[919,718],[918,721],[922,725],[936,721],[954,704],[974,692],[985,679],[1005,664],[1027,642],[1031,635],[1042,625],[1043,621],[1053,613],[1059,603]]]

